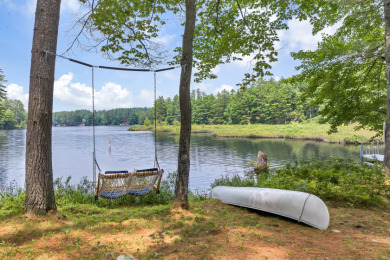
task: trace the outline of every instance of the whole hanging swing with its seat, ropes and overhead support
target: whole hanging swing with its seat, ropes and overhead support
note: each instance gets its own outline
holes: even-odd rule
[[[167,70],[173,70],[181,66],[174,66],[168,68],[162,68],[157,70],[152,69],[132,69],[132,68],[120,68],[120,67],[107,67],[107,66],[94,66],[79,60],[67,58],[50,51],[43,50],[44,55],[55,55],[57,57],[69,60],[71,62],[90,67],[92,70],[92,142],[93,142],[93,187],[96,187],[95,199],[100,197],[106,199],[117,199],[125,195],[145,196],[153,190],[159,194],[161,178],[164,173],[163,169],[160,169],[157,156],[157,73]],[[154,168],[135,170],[129,172],[122,171],[106,171],[102,172],[96,159],[96,138],[95,138],[95,68],[110,69],[110,70],[123,70],[123,71],[138,71],[138,72],[153,72],[154,73]],[[99,170],[98,179],[96,181],[96,172]]]

